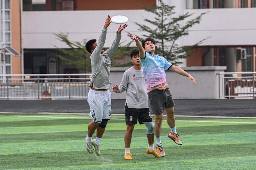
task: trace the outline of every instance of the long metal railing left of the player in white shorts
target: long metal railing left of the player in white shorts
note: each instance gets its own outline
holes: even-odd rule
[[[87,98],[91,74],[0,75],[0,99]]]

